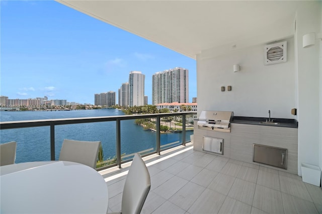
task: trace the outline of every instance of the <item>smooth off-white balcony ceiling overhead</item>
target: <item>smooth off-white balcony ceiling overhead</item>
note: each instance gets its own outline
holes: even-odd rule
[[[201,51],[273,42],[294,34],[307,1],[57,1],[196,59]],[[269,40],[268,40],[269,38]]]

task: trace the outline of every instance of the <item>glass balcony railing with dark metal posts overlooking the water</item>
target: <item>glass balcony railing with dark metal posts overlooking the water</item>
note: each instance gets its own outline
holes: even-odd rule
[[[16,163],[58,160],[63,139],[101,141],[97,169],[190,142],[196,112],[0,122],[0,139],[17,141]]]

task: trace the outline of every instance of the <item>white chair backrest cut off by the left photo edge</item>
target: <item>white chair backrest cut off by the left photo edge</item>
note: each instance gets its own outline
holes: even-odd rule
[[[16,160],[17,142],[12,141],[0,145],[0,166],[14,164]]]

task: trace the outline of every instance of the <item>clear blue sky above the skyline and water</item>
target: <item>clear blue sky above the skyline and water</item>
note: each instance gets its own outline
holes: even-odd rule
[[[46,95],[94,104],[95,93],[118,93],[136,70],[145,74],[151,104],[152,75],[175,67],[189,69],[192,102],[194,59],[54,1],[1,0],[0,94],[10,99]]]

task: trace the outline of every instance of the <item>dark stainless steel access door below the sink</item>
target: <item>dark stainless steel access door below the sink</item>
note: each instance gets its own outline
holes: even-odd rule
[[[287,169],[287,149],[254,144],[253,161]]]

